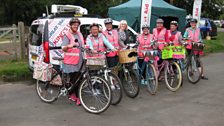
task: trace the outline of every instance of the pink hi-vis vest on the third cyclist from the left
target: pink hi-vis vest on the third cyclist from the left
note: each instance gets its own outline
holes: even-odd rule
[[[118,32],[117,30],[112,30],[112,35],[110,35],[108,33],[108,31],[104,31],[103,34],[106,36],[106,38],[108,39],[108,41],[115,47],[115,48],[119,48],[119,43],[118,43]],[[110,52],[107,54],[107,57],[114,57],[118,55],[118,52]]]

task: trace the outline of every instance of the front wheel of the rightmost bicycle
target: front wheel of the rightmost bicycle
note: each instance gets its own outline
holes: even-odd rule
[[[201,71],[198,66],[202,66]],[[187,79],[191,84],[196,84],[201,79],[201,74],[203,73],[203,65],[200,59],[193,56],[191,62],[187,66]]]

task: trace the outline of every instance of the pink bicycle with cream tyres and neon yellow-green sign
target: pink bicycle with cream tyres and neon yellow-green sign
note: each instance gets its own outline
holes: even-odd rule
[[[168,43],[157,42],[156,45],[159,45],[159,44],[168,44]],[[158,73],[158,80],[161,81],[164,78],[166,87],[170,91],[175,92],[182,85],[183,78],[182,78],[182,71],[179,67],[179,64],[176,63],[175,60],[172,57],[170,57],[170,55],[168,55],[167,57],[167,55],[164,53],[166,49],[169,50],[170,46],[171,44],[168,44],[167,47],[164,47],[164,49],[162,50],[163,61],[159,65],[155,63],[155,68]],[[162,75],[162,71],[164,72],[164,77]]]

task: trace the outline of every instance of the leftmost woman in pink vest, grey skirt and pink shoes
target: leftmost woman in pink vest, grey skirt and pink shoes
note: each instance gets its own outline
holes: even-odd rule
[[[80,75],[80,69],[83,63],[81,50],[73,46],[83,46],[84,39],[82,33],[78,31],[81,24],[78,18],[72,18],[69,22],[70,29],[65,33],[62,42],[62,50],[64,51],[63,72],[69,76],[71,83],[75,83],[75,79]],[[70,92],[70,100],[76,101],[80,105],[78,98],[78,86],[76,85],[73,92]]]

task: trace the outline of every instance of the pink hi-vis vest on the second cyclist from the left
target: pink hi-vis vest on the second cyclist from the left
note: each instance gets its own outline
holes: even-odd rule
[[[103,42],[103,34],[100,34],[100,36],[98,36],[98,43],[95,41],[95,38],[90,35],[89,36],[90,40],[93,43],[93,50],[96,51],[105,51],[105,46],[104,46],[104,42]],[[87,57],[94,57],[94,58],[105,58],[105,55],[103,54],[93,54],[93,55],[87,55]]]

